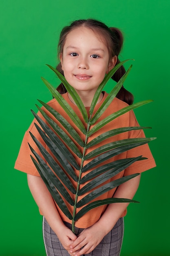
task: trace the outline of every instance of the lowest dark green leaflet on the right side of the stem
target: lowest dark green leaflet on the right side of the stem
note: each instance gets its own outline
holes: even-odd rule
[[[126,198],[107,198],[104,200],[97,200],[95,202],[92,202],[85,207],[83,207],[75,216],[74,221],[78,220],[81,218],[85,213],[90,211],[91,209],[94,209],[96,207],[99,207],[104,204],[113,204],[113,203],[139,203],[138,201],[135,200],[130,200]]]

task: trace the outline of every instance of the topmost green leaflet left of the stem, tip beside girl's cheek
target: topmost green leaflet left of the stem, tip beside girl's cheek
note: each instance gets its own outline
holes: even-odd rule
[[[80,112],[82,113],[84,121],[86,123],[88,123],[88,115],[87,115],[86,108],[84,107],[84,105],[82,103],[82,100],[80,99],[80,97],[77,94],[76,90],[71,85],[68,84],[68,82],[66,81],[65,77],[60,72],[58,72],[55,68],[51,67],[50,65],[47,65],[47,66],[51,70],[53,70],[53,72],[55,72],[55,74],[58,76],[58,78],[62,81],[62,83],[64,84],[66,90],[69,92],[69,94],[71,95],[71,97],[75,101],[75,104],[77,105],[77,107],[79,108]]]

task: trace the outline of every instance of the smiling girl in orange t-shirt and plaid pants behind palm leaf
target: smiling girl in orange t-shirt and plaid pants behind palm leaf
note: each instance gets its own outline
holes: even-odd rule
[[[57,66],[57,70],[65,76],[66,81],[79,94],[87,112],[99,84],[103,81],[105,75],[119,63],[119,53],[122,44],[123,37],[119,29],[108,28],[97,20],[76,20],[62,30],[58,45],[60,63]],[[125,70],[122,66],[112,78],[115,81],[119,81],[124,73]],[[57,90],[83,122],[79,109],[71,95],[66,92],[64,85],[61,84]],[[107,95],[106,92],[101,93],[95,111],[102,105]],[[132,101],[132,94],[122,87],[102,117],[104,118],[112,112],[126,107],[127,104],[132,104]],[[79,133],[79,136],[84,139],[84,135],[64,113],[64,110],[62,110],[55,99],[49,101],[48,104],[68,119],[70,124]],[[71,220],[62,213],[57,203],[53,200],[30,158],[31,152],[28,142],[41,155],[29,135],[29,131],[31,131],[39,141],[42,140],[34,126],[35,122],[33,120],[33,123],[24,135],[15,168],[27,173],[29,188],[41,214],[44,216],[43,235],[47,256],[119,256],[124,233],[123,217],[126,215],[128,203],[114,203],[92,209],[76,222],[75,234],[73,234],[71,231]],[[139,126],[132,111],[111,121],[109,125],[100,129],[99,133],[95,134],[95,136],[102,134],[106,130],[111,130],[113,127],[120,128],[126,126]],[[144,137],[144,132],[143,130],[124,132],[109,138],[105,143],[130,137]],[[41,143],[43,144],[44,142],[41,141]],[[139,155],[143,155],[143,157],[148,159],[135,162],[124,171],[121,171],[116,178],[133,173],[141,173],[155,166],[155,161],[150,153],[148,144],[121,153],[121,155],[113,157],[112,160],[115,161]],[[79,161],[76,156],[75,159]],[[75,173],[78,175],[76,170]],[[138,189],[139,180],[140,175],[105,193],[97,198],[97,200],[111,197],[132,199]],[[74,197],[74,195],[72,196]],[[73,211],[71,207],[70,211]]]

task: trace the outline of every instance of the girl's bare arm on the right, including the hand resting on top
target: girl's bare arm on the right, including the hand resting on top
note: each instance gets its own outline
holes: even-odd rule
[[[140,175],[118,186],[114,198],[132,199],[140,182]],[[109,204],[101,218],[91,227],[84,229],[71,244],[70,252],[75,256],[88,254],[102,241],[104,236],[113,229],[129,203]],[[82,248],[83,247],[83,248]],[[82,248],[82,249],[80,249]]]

